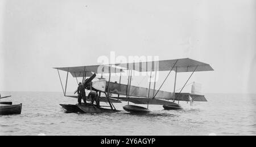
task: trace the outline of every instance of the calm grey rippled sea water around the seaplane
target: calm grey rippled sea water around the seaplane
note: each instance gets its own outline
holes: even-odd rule
[[[208,102],[180,102],[184,110],[168,111],[154,105],[146,115],[67,114],[59,103],[77,100],[63,93],[1,94],[23,108],[21,115],[0,116],[0,135],[256,135],[256,94],[206,94]]]

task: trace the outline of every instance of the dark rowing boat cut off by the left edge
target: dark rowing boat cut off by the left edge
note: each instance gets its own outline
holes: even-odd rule
[[[20,114],[22,111],[22,103],[19,105],[0,106],[0,115]]]

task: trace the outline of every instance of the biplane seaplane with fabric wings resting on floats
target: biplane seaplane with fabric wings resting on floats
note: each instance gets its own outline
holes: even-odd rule
[[[182,109],[182,107],[178,103],[176,103],[176,101],[207,101],[204,95],[195,93],[183,93],[183,89],[195,72],[213,71],[213,68],[210,67],[209,64],[189,58],[80,67],[59,67],[55,69],[57,69],[57,72],[59,74],[61,87],[63,89],[65,97],[78,97],[66,95],[68,74],[71,74],[74,78],[76,78],[77,83],[78,77],[82,77],[82,83],[84,83],[85,85],[91,83],[91,87],[98,93],[98,100],[100,102],[106,102],[108,104],[108,106],[99,107],[97,107],[93,103],[83,103],[82,105],[60,104],[65,110],[67,110],[68,113],[115,113],[121,110],[115,109],[113,103],[122,102],[127,102],[128,105],[123,106],[123,109],[130,113],[148,113],[150,112],[150,110],[148,109],[148,105],[163,105],[163,108],[165,110]],[[67,72],[65,88],[63,87],[59,70]],[[154,88],[151,88],[151,82],[149,82],[148,88],[144,88],[131,85],[133,71],[150,72],[150,79],[152,72],[168,71],[168,74],[165,77],[162,85],[158,89],[155,88],[155,82]],[[161,88],[167,80],[168,76],[170,76],[171,71],[175,71],[174,91],[163,91],[161,90]],[[129,73],[127,84],[121,83],[122,72]],[[176,92],[176,76],[179,72],[190,72],[191,74],[181,90],[179,90],[179,92]],[[117,81],[113,82],[111,80],[113,73],[120,75],[119,83],[117,83]],[[106,80],[105,78],[102,78],[102,74],[108,74],[109,79]],[[96,78],[96,76],[98,75],[101,75],[101,78]],[[86,101],[89,100],[90,97],[86,96]],[[138,105],[144,104],[147,105],[147,108],[142,106],[129,105],[129,102]],[[107,109],[106,107],[109,107],[109,109]]]

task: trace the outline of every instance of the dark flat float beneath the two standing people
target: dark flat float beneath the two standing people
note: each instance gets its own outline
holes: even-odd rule
[[[66,113],[117,113],[119,110],[105,109],[102,107],[96,107],[89,103],[82,103],[82,105],[64,105],[60,104],[66,111]]]

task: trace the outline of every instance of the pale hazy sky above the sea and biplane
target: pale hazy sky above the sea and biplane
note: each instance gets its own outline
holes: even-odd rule
[[[256,93],[255,14],[254,0],[1,0],[0,91],[61,92],[52,67],[98,64],[115,51],[200,60],[214,68],[193,76],[204,93]],[[188,76],[178,74],[178,87]]]

